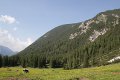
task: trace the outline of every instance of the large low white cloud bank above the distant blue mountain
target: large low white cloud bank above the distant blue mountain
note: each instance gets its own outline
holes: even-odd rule
[[[7,30],[0,29],[0,45],[9,47],[13,51],[21,51],[32,44],[32,42],[31,38],[22,41],[19,38],[15,38]]]

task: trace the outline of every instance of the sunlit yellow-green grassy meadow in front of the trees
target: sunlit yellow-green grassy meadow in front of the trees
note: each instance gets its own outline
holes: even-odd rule
[[[120,63],[73,70],[28,69],[24,73],[20,67],[0,68],[0,80],[120,80]]]

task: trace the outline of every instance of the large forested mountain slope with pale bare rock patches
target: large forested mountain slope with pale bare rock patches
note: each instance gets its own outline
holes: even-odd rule
[[[101,66],[120,55],[120,9],[108,10],[84,22],[58,26],[17,54],[22,66]]]

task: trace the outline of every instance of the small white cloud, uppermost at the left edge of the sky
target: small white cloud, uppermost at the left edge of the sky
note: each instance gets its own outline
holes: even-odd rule
[[[13,24],[16,23],[16,19],[12,16],[8,15],[1,15],[0,16],[0,22],[6,23],[6,24]]]

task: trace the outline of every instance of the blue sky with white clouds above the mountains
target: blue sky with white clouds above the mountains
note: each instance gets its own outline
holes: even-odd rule
[[[0,0],[0,45],[21,51],[62,24],[120,8],[120,0]]]

